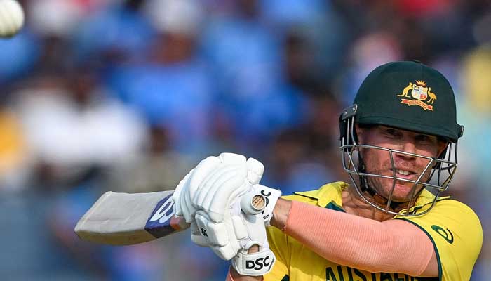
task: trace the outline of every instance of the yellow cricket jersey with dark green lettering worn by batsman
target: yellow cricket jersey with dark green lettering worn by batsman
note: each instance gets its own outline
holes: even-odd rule
[[[341,192],[349,185],[343,182],[329,183],[318,190],[295,192],[285,196],[287,200],[306,202],[319,207],[344,211]],[[433,201],[431,192],[423,190],[412,212],[422,212]],[[435,207],[422,216],[403,217],[421,228],[435,247],[439,276],[434,278],[411,277],[402,273],[370,273],[356,268],[332,263],[278,228],[267,228],[269,246],[276,254],[273,270],[264,281],[412,281],[412,280],[469,280],[472,268],[483,244],[483,229],[476,214],[465,204],[440,197]],[[401,259],[405,259],[401,256]]]

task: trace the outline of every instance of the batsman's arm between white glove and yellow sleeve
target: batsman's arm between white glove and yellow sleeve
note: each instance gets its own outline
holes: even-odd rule
[[[302,202],[278,200],[271,225],[324,259],[370,272],[419,276],[434,254],[429,237],[407,221],[379,222]],[[438,276],[438,270],[427,274]]]

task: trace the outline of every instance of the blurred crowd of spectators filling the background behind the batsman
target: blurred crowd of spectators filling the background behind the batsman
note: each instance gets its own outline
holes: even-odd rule
[[[74,225],[103,192],[174,189],[220,152],[259,159],[283,194],[348,181],[339,112],[373,68],[411,59],[455,89],[448,193],[480,216],[472,280],[489,280],[489,1],[20,3],[25,28],[0,40],[1,280],[224,280],[187,232],[109,247]]]

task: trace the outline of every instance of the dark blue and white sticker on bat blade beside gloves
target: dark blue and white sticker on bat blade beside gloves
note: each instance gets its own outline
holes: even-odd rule
[[[145,230],[156,238],[181,230],[178,218],[175,218],[174,215],[174,200],[172,195],[168,195],[156,204],[154,211],[152,211],[145,224]]]

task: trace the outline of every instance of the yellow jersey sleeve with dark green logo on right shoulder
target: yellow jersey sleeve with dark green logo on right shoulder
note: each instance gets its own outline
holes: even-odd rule
[[[471,208],[442,200],[428,214],[401,219],[421,228],[433,242],[439,280],[470,280],[483,244],[483,228]]]

